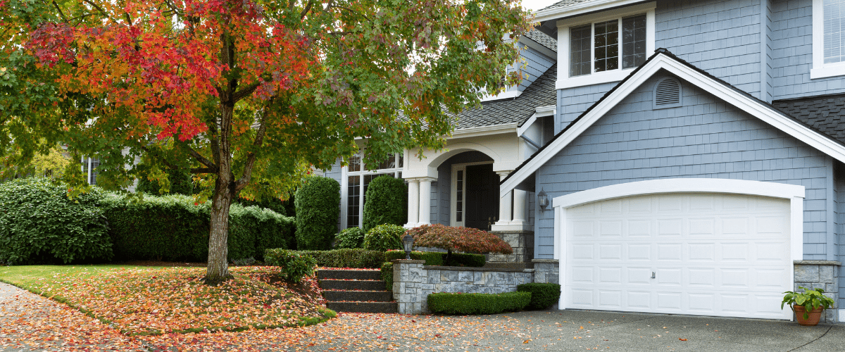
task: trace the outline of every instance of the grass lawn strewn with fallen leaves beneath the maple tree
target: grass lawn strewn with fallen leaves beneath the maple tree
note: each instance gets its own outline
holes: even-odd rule
[[[0,267],[0,281],[73,306],[127,334],[241,331],[310,325],[335,317],[313,278],[274,267],[234,267],[235,279],[202,284],[205,268],[128,265]]]

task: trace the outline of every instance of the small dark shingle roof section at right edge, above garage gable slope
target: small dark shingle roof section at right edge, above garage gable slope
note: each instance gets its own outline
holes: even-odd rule
[[[775,100],[771,105],[816,131],[845,143],[845,95]]]

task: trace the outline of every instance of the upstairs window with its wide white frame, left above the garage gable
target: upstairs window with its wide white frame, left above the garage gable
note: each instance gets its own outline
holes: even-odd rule
[[[557,89],[618,82],[654,51],[655,3],[558,21]]]

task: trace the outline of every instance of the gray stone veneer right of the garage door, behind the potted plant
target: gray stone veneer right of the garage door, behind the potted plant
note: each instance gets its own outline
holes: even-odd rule
[[[821,316],[820,322],[839,322],[837,297],[839,296],[839,281],[837,268],[842,265],[839,262],[829,260],[796,260],[795,264],[795,287],[806,287],[810,290],[825,290],[825,295],[831,297],[832,309],[826,309]],[[786,308],[784,308],[786,309]]]

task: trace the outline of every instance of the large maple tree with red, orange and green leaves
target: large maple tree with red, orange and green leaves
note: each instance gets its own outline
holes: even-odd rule
[[[516,0],[0,0],[3,170],[62,143],[106,188],[191,172],[218,284],[233,198],[284,197],[355,138],[368,164],[442,148],[455,113],[518,82],[530,27]],[[63,178],[85,190],[78,165]]]

